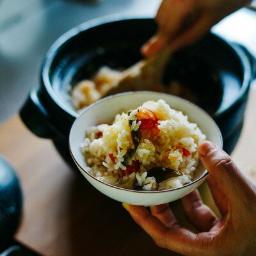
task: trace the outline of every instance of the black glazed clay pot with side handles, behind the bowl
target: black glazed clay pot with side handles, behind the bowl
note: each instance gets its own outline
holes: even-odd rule
[[[70,164],[68,134],[77,117],[68,90],[90,78],[102,65],[127,68],[141,60],[141,45],[157,29],[153,19],[98,19],[61,36],[42,65],[41,86],[32,90],[20,116],[37,136],[50,138]],[[243,127],[256,61],[241,45],[209,33],[200,42],[173,54],[163,82],[178,81],[198,96],[199,106],[219,125],[224,150],[232,151]]]

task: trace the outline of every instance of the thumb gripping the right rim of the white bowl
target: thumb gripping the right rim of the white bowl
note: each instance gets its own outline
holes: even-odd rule
[[[243,202],[250,197],[252,183],[221,148],[210,141],[204,141],[198,146],[198,154],[205,168],[230,200],[230,204]]]

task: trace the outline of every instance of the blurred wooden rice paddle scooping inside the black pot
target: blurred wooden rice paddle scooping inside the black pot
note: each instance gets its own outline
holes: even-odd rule
[[[171,50],[166,47],[155,56],[141,60],[122,72],[120,79],[111,84],[113,87],[103,97],[120,92],[156,90],[161,84],[164,68],[170,60]]]

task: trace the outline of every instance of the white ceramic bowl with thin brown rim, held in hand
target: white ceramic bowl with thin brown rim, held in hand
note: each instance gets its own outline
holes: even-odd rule
[[[165,100],[171,108],[180,110],[184,115],[188,115],[189,121],[198,124],[198,127],[206,135],[207,140],[222,147],[221,133],[214,120],[204,110],[187,100],[156,92],[126,92],[98,100],[88,106],[72,125],[69,136],[69,147],[71,155],[84,177],[100,192],[115,200],[134,205],[164,204],[187,195],[193,189],[200,186],[207,177],[208,172],[202,163],[200,163],[196,167],[193,181],[181,188],[163,191],[134,191],[107,184],[97,180],[93,175],[86,172],[86,161],[84,161],[84,156],[80,152],[80,146],[83,143],[86,130],[102,122],[110,124],[113,122],[116,114],[138,108],[138,106],[141,106],[147,100],[159,99]]]

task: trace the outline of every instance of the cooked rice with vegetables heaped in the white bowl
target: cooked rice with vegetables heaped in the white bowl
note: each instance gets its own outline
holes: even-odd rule
[[[157,132],[142,127],[143,120],[137,118],[141,109],[148,109],[157,117],[154,130]],[[125,166],[127,151],[135,147],[131,131],[139,129],[140,143]],[[111,125],[100,124],[88,129],[81,152],[90,166],[88,172],[99,180],[114,186],[126,184],[123,188],[129,189],[164,190],[191,182],[198,164],[196,148],[204,140],[205,135],[188,121],[188,116],[170,108],[164,100],[150,100],[133,111],[116,115]],[[157,182],[154,176],[147,175],[147,171],[156,166],[170,168],[179,175]]]

